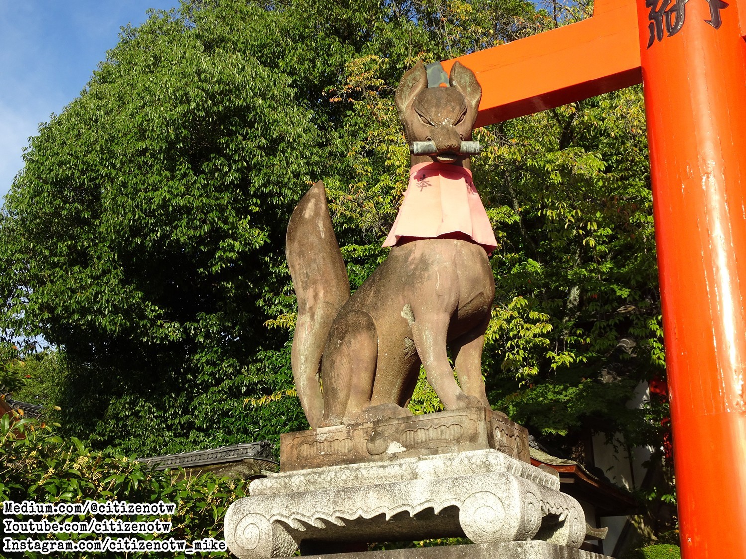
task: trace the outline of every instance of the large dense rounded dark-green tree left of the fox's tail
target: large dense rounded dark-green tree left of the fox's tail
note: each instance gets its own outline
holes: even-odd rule
[[[307,100],[254,55],[286,21],[192,8],[123,31],[32,139],[0,226],[7,329],[65,351],[63,423],[142,452],[287,378],[263,322],[287,304],[283,223],[322,164]],[[290,406],[279,423],[299,422]]]

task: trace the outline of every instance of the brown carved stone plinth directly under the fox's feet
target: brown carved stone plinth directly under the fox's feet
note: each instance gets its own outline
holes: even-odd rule
[[[281,437],[280,470],[482,449],[530,461],[526,429],[486,408],[467,408],[286,433]]]

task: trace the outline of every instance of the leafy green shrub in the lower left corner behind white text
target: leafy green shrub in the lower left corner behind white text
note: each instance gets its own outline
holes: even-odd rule
[[[0,502],[34,501],[37,503],[75,503],[87,500],[125,501],[130,503],[175,504],[174,514],[155,516],[119,517],[127,521],[148,521],[160,519],[172,522],[171,531],[165,534],[56,534],[60,539],[87,538],[105,539],[111,537],[137,537],[142,540],[168,539],[186,540],[192,543],[206,537],[222,540],[223,518],[233,501],[245,496],[242,481],[216,477],[211,473],[201,476],[186,476],[184,470],[175,476],[168,471],[151,470],[134,461],[134,456],[118,455],[110,449],[92,451],[80,440],[63,440],[54,435],[48,426],[34,420],[19,420],[13,424],[10,414],[0,420]],[[7,515],[10,516],[10,515]],[[92,515],[61,515],[30,517],[23,519],[48,519],[50,522],[74,522],[89,520]],[[113,516],[97,516],[98,519]],[[10,535],[10,534],[7,534]],[[51,534],[14,534],[16,539],[25,540],[51,538]],[[125,553],[109,552],[106,555],[89,555],[73,552],[55,553],[62,558],[141,558],[147,555],[162,557],[186,557],[182,552]],[[12,556],[12,555],[11,555]],[[25,552],[16,556],[29,558],[41,554]],[[225,557],[225,553],[205,553],[202,557]]]

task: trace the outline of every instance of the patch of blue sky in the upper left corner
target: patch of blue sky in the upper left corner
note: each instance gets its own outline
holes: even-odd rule
[[[119,28],[178,0],[0,0],[0,197],[28,137],[80,95]]]

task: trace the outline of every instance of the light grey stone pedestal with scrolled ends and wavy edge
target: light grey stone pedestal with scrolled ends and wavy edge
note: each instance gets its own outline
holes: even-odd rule
[[[228,509],[225,540],[239,558],[292,555],[308,542],[475,543],[539,538],[580,547],[580,505],[555,476],[495,449],[272,474]]]

